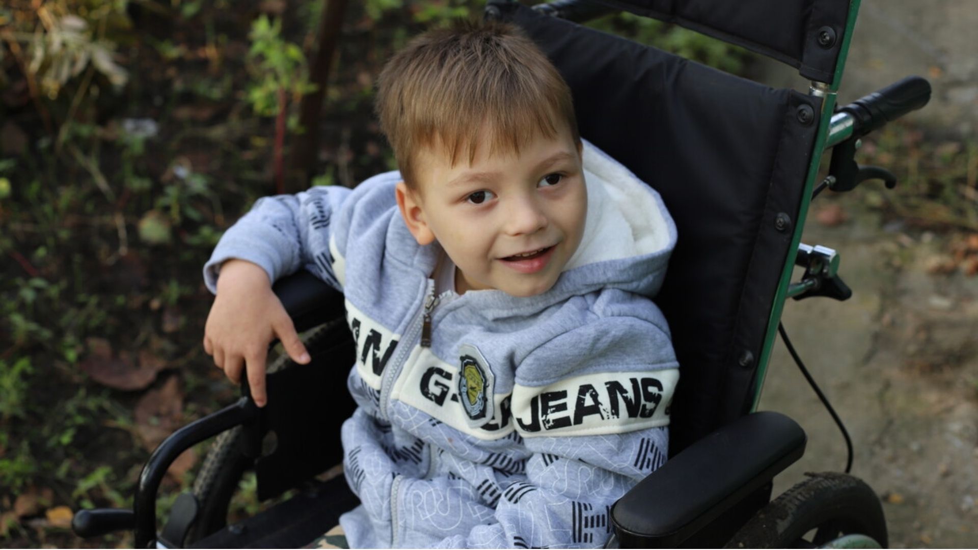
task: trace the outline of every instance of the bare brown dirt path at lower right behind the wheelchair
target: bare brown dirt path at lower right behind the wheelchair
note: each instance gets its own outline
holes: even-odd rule
[[[891,546],[978,546],[978,277],[927,273],[946,237],[857,218],[810,223],[803,239],[841,253],[853,298],[792,300],[785,329],[852,435],[853,474],[882,497]],[[842,436],[779,342],[761,409],[809,436],[776,494],[844,470]]]

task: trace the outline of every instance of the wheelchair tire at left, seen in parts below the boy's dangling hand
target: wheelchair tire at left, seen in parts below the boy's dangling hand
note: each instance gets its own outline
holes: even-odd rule
[[[322,347],[333,345],[330,334],[342,325],[336,319],[300,335],[306,350],[313,357]],[[281,346],[279,346],[281,347]],[[273,373],[293,364],[285,351],[269,354],[267,372]],[[217,436],[200,465],[200,472],[194,481],[194,496],[198,501],[198,517],[187,532],[184,544],[189,545],[228,525],[228,511],[231,500],[238,491],[244,475],[253,469],[254,460],[244,456],[242,428],[232,428]]]

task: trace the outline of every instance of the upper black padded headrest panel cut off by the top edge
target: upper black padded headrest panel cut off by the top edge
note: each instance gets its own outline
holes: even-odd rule
[[[849,0],[594,0],[697,30],[831,83]]]

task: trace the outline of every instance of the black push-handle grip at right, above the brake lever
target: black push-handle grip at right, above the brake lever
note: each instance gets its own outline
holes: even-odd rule
[[[872,92],[849,105],[845,111],[856,118],[854,133],[864,136],[930,101],[930,82],[919,76],[908,76],[895,84]]]

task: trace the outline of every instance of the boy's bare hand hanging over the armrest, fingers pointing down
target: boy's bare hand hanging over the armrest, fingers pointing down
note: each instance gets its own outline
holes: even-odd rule
[[[309,353],[299,340],[282,301],[272,292],[268,275],[261,267],[242,259],[221,264],[217,297],[210,306],[203,331],[203,349],[214,364],[235,384],[246,368],[251,397],[265,406],[265,358],[268,344],[276,337],[296,363],[309,362]],[[245,367],[246,365],[246,367]]]

